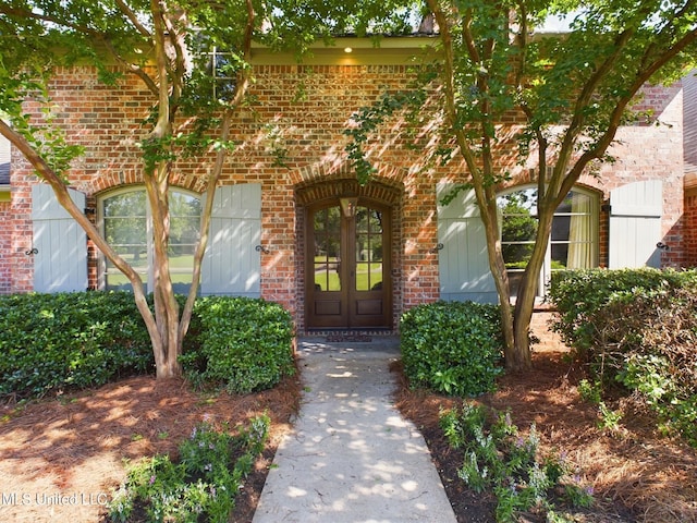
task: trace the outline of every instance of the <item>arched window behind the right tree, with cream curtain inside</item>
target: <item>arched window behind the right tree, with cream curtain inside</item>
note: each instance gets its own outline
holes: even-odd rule
[[[537,234],[537,190],[523,188],[499,196],[501,244],[511,295],[517,294]],[[598,265],[598,199],[575,188],[557,208],[540,278],[540,293],[553,270],[585,269]]]

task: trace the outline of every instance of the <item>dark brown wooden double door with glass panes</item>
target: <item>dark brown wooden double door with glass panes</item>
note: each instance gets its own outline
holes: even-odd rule
[[[390,327],[390,214],[357,202],[309,210],[307,227],[308,328]]]

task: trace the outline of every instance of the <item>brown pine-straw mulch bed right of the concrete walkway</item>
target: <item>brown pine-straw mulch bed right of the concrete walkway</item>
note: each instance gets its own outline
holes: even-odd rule
[[[502,377],[496,393],[476,401],[499,412],[509,410],[522,430],[535,423],[542,451],[565,452],[578,465],[584,482],[594,488],[595,506],[574,514],[575,521],[697,522],[697,449],[661,437],[647,415],[622,402],[610,405],[623,406],[620,429],[599,428],[597,408],[580,399],[580,373],[566,356],[537,352],[530,373]],[[402,379],[398,406],[428,441],[457,521],[493,522],[494,500],[463,486],[457,477],[463,457],[448,446],[438,426],[440,410],[461,400],[408,390],[395,367]]]

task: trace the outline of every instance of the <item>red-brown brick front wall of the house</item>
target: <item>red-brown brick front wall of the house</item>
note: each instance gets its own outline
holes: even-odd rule
[[[252,95],[257,101],[233,123],[237,147],[225,165],[221,183],[261,183],[261,243],[269,250],[260,254],[261,293],[291,311],[301,328],[304,206],[298,202],[299,191],[319,187],[316,184],[325,180],[353,178],[343,134],[352,125],[352,113],[378,99],[386,89],[404,88],[409,77],[409,70],[401,65],[264,65],[255,71]],[[85,192],[94,206],[105,192],[139,183],[136,143],[143,137],[140,121],[152,101],[149,94],[135,80],[125,81],[118,89],[103,87],[90,68],[61,71],[54,87],[59,121],[74,129],[71,139],[86,148],[84,158],[71,172],[73,187]],[[623,130],[620,136],[623,143],[613,149],[620,160],[604,166],[600,178],[585,177],[583,183],[604,199],[612,188],[632,181],[664,180],[665,239],[667,243],[680,246],[684,234],[680,167],[682,96],[675,87],[653,90],[646,100],[658,108],[665,124]],[[427,109],[428,104],[424,113]],[[515,114],[510,120],[514,123]],[[424,149],[437,145],[432,139],[432,122],[425,120],[414,125],[407,135],[399,132],[404,126],[405,122],[399,119],[387,122],[379,139],[366,146],[378,169],[376,180],[400,194],[391,202],[394,325],[403,309],[439,296],[438,254],[432,252],[438,240],[436,183],[465,180],[465,169],[458,161],[448,168],[427,162]],[[515,166],[512,144],[502,143],[500,147],[504,161]],[[32,241],[29,194],[36,179],[21,159],[14,160],[9,210],[13,231],[9,256],[11,285],[0,272],[0,278],[4,278],[0,292],[8,287],[12,292],[32,290],[32,264],[24,252]],[[200,177],[210,168],[207,160],[178,163],[175,184],[200,192]],[[369,190],[378,191],[378,185]],[[388,198],[377,192],[374,196]],[[674,248],[671,253],[678,251]],[[95,256],[93,253],[90,258],[91,284],[96,284]],[[668,258],[667,262],[677,263]]]

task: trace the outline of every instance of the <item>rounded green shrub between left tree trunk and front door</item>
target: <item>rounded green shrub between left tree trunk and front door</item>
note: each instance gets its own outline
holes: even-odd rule
[[[181,357],[195,385],[233,393],[271,388],[295,372],[290,314],[257,299],[211,296],[194,308],[193,339]]]

